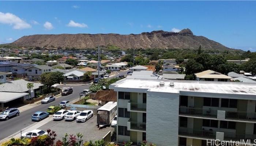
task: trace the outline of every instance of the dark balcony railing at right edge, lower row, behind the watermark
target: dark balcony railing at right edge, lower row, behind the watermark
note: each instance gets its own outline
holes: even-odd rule
[[[250,143],[255,143],[254,140],[256,139],[256,135],[252,134],[236,134],[230,132],[224,132],[224,140],[225,141],[242,141],[245,142],[249,140]]]

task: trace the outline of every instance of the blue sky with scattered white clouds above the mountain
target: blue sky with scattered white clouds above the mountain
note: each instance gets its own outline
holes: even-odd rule
[[[256,51],[256,1],[0,1],[0,42],[24,35],[190,28],[227,47]]]

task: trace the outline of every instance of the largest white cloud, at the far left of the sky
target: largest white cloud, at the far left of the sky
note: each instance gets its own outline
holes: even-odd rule
[[[31,25],[11,13],[0,12],[0,23],[13,25],[14,29],[31,28]]]

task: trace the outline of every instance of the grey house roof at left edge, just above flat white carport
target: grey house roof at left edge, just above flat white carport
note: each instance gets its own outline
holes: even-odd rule
[[[4,84],[0,84],[0,92],[27,92],[29,89],[27,89],[27,83],[28,81],[25,80],[14,80],[10,82],[6,82]],[[43,84],[40,84],[38,82],[30,82],[34,84],[34,87],[32,89],[38,89]]]

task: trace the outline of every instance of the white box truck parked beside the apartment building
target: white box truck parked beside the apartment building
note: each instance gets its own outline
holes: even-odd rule
[[[117,114],[117,102],[109,101],[97,110],[97,124],[99,129],[109,126]]]

